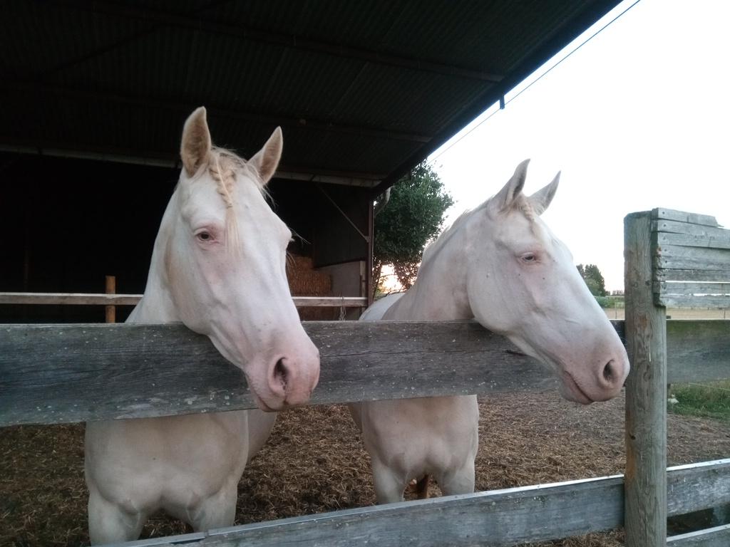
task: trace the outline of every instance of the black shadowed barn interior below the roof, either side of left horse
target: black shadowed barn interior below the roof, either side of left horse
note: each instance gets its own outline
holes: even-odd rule
[[[7,184],[0,201],[4,292],[104,292],[109,274],[116,276],[117,292],[145,290],[177,169],[7,153],[0,154],[0,162],[3,179],[15,182]],[[328,185],[323,190],[317,183],[277,179],[269,191],[274,211],[296,234],[292,255],[312,257],[318,268],[365,260],[366,241],[353,238],[359,234],[342,213],[366,232],[366,189]],[[120,308],[118,319],[129,311]],[[0,320],[94,322],[104,320],[104,309],[0,306]]]

